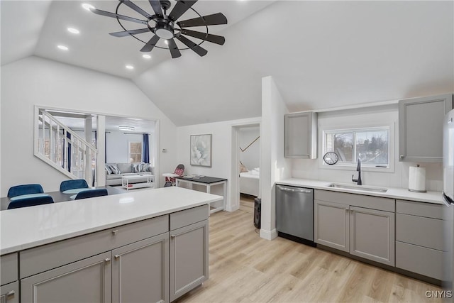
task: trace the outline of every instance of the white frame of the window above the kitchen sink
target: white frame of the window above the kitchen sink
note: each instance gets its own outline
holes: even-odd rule
[[[320,130],[319,142],[321,148],[319,153],[319,168],[328,170],[356,170],[357,162],[340,162],[335,165],[328,165],[323,161],[323,155],[331,150],[326,150],[326,133],[355,133],[362,131],[388,131],[388,160],[387,167],[377,167],[376,165],[361,164],[361,170],[370,172],[394,172],[394,123],[387,126],[361,126],[361,127],[348,127],[341,128],[336,126],[329,126]],[[355,135],[353,135],[353,155],[356,157],[356,143]]]

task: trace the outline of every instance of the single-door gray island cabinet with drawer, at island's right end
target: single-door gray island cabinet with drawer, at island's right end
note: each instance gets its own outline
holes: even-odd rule
[[[208,214],[207,206],[170,214],[170,301],[208,279]]]

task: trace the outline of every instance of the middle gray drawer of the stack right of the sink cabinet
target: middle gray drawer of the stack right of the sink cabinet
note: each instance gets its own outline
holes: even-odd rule
[[[443,250],[443,221],[422,216],[397,214],[396,240]]]

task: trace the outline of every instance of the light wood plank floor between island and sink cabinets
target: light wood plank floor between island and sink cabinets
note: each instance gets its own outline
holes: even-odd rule
[[[209,280],[177,302],[441,302],[425,296],[441,290],[435,285],[284,238],[260,238],[250,201],[211,214],[209,224]]]

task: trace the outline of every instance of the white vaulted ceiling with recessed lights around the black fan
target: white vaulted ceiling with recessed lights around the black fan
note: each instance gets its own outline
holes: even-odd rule
[[[106,11],[118,3],[87,2]],[[133,2],[148,10],[148,1]],[[200,0],[193,7],[201,15],[227,16],[227,26],[210,27],[226,44],[177,59],[155,49],[150,61],[143,43],[108,34],[121,31],[116,19],[81,4],[2,0],[1,65],[38,55],[130,78],[177,126],[260,116],[268,75],[291,111],[454,91],[453,1]]]

